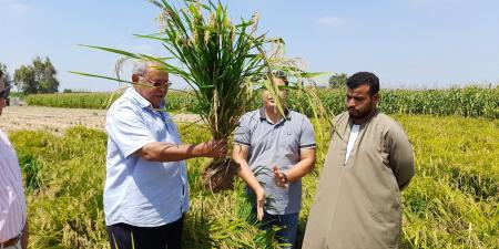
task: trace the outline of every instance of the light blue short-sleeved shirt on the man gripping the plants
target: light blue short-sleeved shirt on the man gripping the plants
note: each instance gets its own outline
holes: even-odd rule
[[[170,115],[130,87],[108,111],[105,128],[105,224],[159,227],[180,219],[189,209],[185,162],[151,162],[134,154],[152,142],[181,144]]]

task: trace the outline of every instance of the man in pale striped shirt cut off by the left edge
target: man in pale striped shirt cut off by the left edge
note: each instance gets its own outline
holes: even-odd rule
[[[0,115],[9,89],[0,71]],[[0,128],[0,249],[26,249],[28,222],[18,156]]]

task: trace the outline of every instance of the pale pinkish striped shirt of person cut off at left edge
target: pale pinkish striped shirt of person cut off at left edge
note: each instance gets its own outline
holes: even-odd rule
[[[18,156],[0,129],[0,242],[17,237],[26,221],[26,199]]]

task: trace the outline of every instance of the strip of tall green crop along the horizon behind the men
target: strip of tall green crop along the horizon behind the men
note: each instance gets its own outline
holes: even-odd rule
[[[120,92],[110,93],[57,93],[35,94],[26,97],[29,105],[71,107],[71,108],[105,108]],[[318,90],[318,96],[325,106],[333,113],[345,108],[344,90]],[[379,108],[389,114],[431,114],[431,115],[460,115],[472,117],[499,118],[499,87],[487,89],[468,86],[449,90],[387,90],[381,91],[383,101]],[[291,108],[307,103],[305,96],[292,93]],[[170,111],[197,112],[195,97],[186,92],[171,91],[166,97]],[[302,105],[299,104],[302,103]],[[259,94],[249,105],[254,110],[261,105]],[[312,108],[303,110],[312,115]]]

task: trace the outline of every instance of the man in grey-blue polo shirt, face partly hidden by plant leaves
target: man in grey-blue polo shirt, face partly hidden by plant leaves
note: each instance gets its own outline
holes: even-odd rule
[[[241,118],[233,158],[241,164],[238,175],[246,181],[248,194],[256,196],[254,210],[258,220],[264,221],[264,228],[279,227],[278,241],[285,248],[296,248],[301,179],[315,165],[314,128],[305,115],[285,107],[285,74],[274,73],[273,83],[279,89],[284,116],[272,94],[264,91],[264,106]]]

